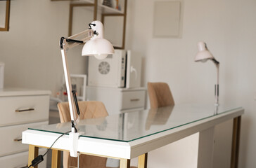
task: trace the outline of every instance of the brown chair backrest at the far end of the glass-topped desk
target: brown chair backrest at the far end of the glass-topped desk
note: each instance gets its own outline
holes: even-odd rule
[[[151,109],[174,105],[172,92],[167,83],[148,83],[148,97]]]

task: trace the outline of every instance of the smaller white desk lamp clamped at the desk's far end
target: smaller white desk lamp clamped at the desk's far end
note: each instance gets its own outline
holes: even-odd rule
[[[217,83],[215,85],[215,106],[219,106],[219,62],[212,56],[208,50],[206,43],[203,41],[198,42],[198,53],[196,54],[195,62],[206,62],[208,59],[212,60],[217,67]]]

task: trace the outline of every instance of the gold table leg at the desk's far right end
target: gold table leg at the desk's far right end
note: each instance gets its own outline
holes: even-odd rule
[[[232,136],[232,150],[231,150],[231,168],[238,167],[239,141],[241,130],[241,116],[233,119],[233,136]]]

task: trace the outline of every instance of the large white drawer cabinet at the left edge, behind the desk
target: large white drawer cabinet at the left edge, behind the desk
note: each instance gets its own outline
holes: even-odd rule
[[[28,146],[21,143],[22,132],[28,127],[49,123],[50,94],[50,91],[44,90],[0,90],[0,134],[3,135],[0,137],[1,166],[27,165]],[[41,153],[44,152],[41,150]],[[45,167],[44,162],[40,167]]]

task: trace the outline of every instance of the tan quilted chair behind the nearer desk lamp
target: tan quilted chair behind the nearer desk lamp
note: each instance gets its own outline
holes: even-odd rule
[[[108,112],[102,102],[84,101],[78,102],[78,106],[81,120],[108,116]],[[58,103],[58,111],[60,114],[60,123],[69,122],[71,120],[68,102]],[[79,167],[105,168],[106,162],[107,158],[92,155],[79,156]],[[72,158],[69,152],[63,151],[63,168],[69,168],[69,166],[77,167],[77,158]]]

